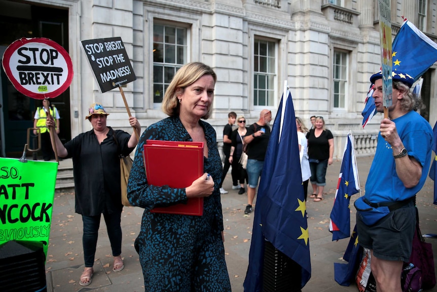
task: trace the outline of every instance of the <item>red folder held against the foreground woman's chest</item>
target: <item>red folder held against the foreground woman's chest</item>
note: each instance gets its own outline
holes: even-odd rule
[[[184,188],[203,175],[203,143],[147,140],[144,167],[151,185]],[[156,207],[153,213],[203,215],[203,198],[190,198],[187,204]]]

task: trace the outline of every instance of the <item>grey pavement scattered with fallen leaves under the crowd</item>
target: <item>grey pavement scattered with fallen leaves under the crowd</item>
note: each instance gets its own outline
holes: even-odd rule
[[[372,160],[373,157],[357,158],[362,190],[365,188]],[[60,161],[60,167],[68,164],[71,164],[70,159]],[[333,263],[345,263],[342,261],[342,256],[349,242],[349,239],[333,242],[332,234],[329,232],[329,216],[334,203],[340,166],[341,161],[337,160],[327,169],[324,200],[313,202],[312,199],[309,199],[307,201],[312,274],[311,279],[302,289],[304,292],[358,291],[355,283],[346,287],[340,286],[334,280]],[[433,181],[428,178],[417,196],[422,234],[437,233],[437,206],[432,204],[433,185]],[[247,271],[254,213],[244,215],[247,197],[246,194],[239,195],[238,190],[232,190],[230,173],[228,173],[223,187],[229,191],[229,193],[222,195],[226,262],[232,290],[240,292],[243,291],[243,282]],[[310,193],[311,190],[311,186],[309,186]],[[358,196],[359,194],[352,196],[352,202]],[[123,209],[121,220],[123,231],[122,257],[124,258],[125,268],[118,273],[112,271],[113,257],[104,220],[102,219],[92,283],[83,287],[79,285],[79,278],[84,268],[82,219],[79,214],[74,212],[74,205],[74,191],[56,191],[46,262],[48,291],[144,291],[141,266],[138,254],[133,247],[134,240],[140,229],[143,209],[138,207],[124,207]],[[254,209],[256,208],[255,205]],[[351,208],[351,228],[354,224],[355,209]],[[435,262],[437,239],[426,239],[426,241],[432,243]],[[437,292],[437,287],[427,291]]]

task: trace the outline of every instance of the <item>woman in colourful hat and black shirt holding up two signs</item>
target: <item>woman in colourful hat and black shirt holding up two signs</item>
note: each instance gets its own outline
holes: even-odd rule
[[[129,117],[130,125],[135,128],[132,134],[114,130],[106,126],[107,115],[101,104],[92,104],[85,117],[93,127],[91,131],[79,134],[65,145],[56,133],[54,135],[59,157],[71,157],[73,160],[75,211],[82,215],[83,220],[85,269],[79,281],[81,286],[91,284],[101,214],[114,256],[113,271],[119,272],[124,268],[121,257],[123,205],[119,155],[126,156],[132,152],[138,143],[135,132],[139,136],[141,126],[135,117]],[[53,118],[47,119],[46,124],[54,126]]]

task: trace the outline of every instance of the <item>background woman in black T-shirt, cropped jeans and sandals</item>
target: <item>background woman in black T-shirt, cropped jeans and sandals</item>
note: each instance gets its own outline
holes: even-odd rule
[[[323,117],[316,117],[314,129],[307,133],[308,157],[310,161],[310,182],[313,193],[310,198],[314,202],[323,200],[323,188],[326,185],[326,168],[333,163],[334,137],[331,131],[325,129]]]

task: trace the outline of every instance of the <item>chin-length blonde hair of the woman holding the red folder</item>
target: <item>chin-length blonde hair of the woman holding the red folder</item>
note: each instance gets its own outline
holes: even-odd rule
[[[215,72],[204,63],[191,62],[179,68],[171,80],[170,85],[168,85],[165,90],[164,99],[162,100],[162,111],[170,117],[178,116],[180,106],[177,94],[183,93],[187,86],[196,82],[203,75],[211,75],[214,79],[214,83],[217,81]],[[209,107],[208,112],[202,118],[209,118],[211,111],[212,109]]]

